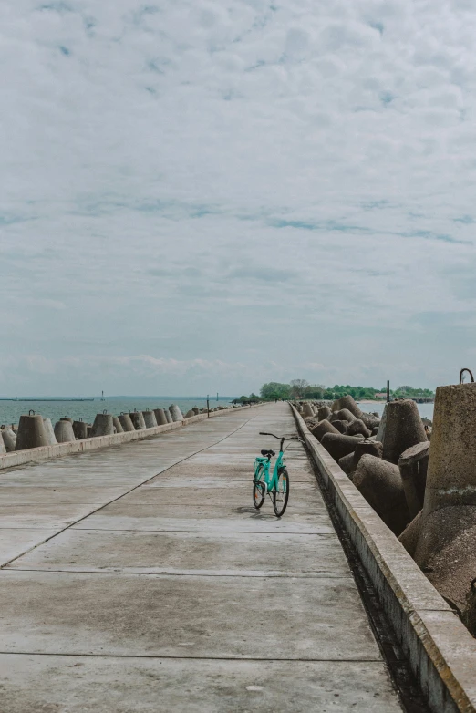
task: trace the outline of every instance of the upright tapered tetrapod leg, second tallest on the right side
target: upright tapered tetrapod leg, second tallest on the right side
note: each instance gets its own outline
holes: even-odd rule
[[[426,442],[427,434],[415,401],[409,398],[390,401],[386,407],[385,427],[378,430],[377,439],[383,443],[384,460],[395,464],[404,450]]]

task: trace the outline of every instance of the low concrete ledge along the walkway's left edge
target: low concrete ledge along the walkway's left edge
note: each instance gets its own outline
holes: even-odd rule
[[[257,404],[256,406],[262,406]],[[224,414],[236,413],[236,411],[250,410],[249,406],[238,406],[236,408],[226,408],[222,411],[213,411],[210,418],[215,416],[223,416]],[[62,458],[70,456],[74,453],[85,453],[88,450],[98,450],[108,448],[109,446],[120,446],[122,443],[130,443],[132,440],[150,439],[153,436],[159,436],[160,433],[167,433],[171,430],[181,429],[184,426],[189,426],[192,423],[197,423],[208,418],[208,415],[199,414],[191,418],[184,418],[182,421],[175,423],[167,423],[164,426],[155,426],[153,429],[142,429],[126,431],[125,433],[115,433],[113,436],[98,436],[94,439],[72,440],[68,443],[57,443],[56,446],[43,446],[41,448],[32,448],[26,450],[16,450],[13,453],[0,455],[0,470],[5,468],[16,468],[26,463],[33,463],[39,460],[48,460],[51,458]]]

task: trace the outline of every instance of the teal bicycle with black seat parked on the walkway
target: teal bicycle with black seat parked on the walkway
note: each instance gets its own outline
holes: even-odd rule
[[[285,514],[287,502],[289,501],[289,474],[284,464],[285,450],[283,445],[285,440],[301,440],[298,436],[274,436],[274,433],[263,433],[260,431],[260,436],[273,436],[274,439],[281,441],[279,444],[279,453],[274,463],[273,475],[270,475],[271,459],[276,455],[274,450],[262,450],[260,458],[254,460],[254,479],[253,479],[253,502],[256,510],[259,510],[264,503],[266,494],[269,495],[273,502],[274,513],[276,517],[281,517]]]

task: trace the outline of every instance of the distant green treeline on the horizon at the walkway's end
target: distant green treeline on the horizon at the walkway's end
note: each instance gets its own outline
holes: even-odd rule
[[[414,388],[414,387],[398,387],[390,389],[390,395],[394,398],[433,398],[434,392],[429,388]],[[286,398],[316,398],[319,400],[334,400],[343,396],[353,396],[356,400],[366,398],[385,399],[387,396],[387,387],[351,387],[349,384],[340,386],[336,384],[334,387],[325,387],[322,384],[309,384],[303,378],[296,378],[290,384],[280,384],[277,381],[270,381],[269,384],[264,384],[260,389],[260,396],[251,394],[250,396],[242,396],[237,401],[249,402],[259,400],[274,400]]]

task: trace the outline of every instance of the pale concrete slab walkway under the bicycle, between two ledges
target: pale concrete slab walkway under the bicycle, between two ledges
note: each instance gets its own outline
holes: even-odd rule
[[[401,710],[285,404],[0,475],[0,709]]]

